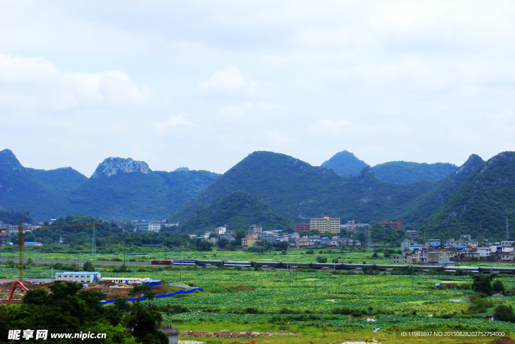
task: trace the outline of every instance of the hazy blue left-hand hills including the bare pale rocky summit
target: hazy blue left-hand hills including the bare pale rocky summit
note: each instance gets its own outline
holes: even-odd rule
[[[78,214],[102,218],[164,218],[218,178],[208,171],[151,171],[144,161],[107,158],[91,178],[72,168],[25,168],[0,152],[0,208],[26,209],[36,220]]]

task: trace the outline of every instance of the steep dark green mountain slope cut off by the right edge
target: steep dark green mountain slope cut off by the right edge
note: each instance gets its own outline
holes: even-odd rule
[[[515,152],[495,155],[482,163],[419,228],[435,237],[448,237],[451,233],[482,238],[481,221],[486,239],[504,239],[506,218],[515,223],[514,176]],[[511,234],[511,240],[513,237]]]

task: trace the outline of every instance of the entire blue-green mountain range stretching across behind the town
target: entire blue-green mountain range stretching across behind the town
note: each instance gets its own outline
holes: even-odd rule
[[[346,167],[345,161],[353,163]],[[169,217],[179,221],[183,231],[226,224],[243,229],[251,223],[279,229],[321,216],[343,222],[400,219],[404,227],[431,235],[485,233],[498,238],[504,238],[506,218],[515,220],[513,152],[488,161],[472,154],[449,173],[452,164],[445,163],[394,161],[370,167],[346,151],[323,165],[312,166],[280,153],[254,152],[218,175],[187,168],[152,171],[143,161],[108,158],[87,178],[72,168],[25,168],[11,151],[4,150],[0,152],[0,216],[13,217],[18,214],[13,210],[26,209],[35,219],[71,214]],[[355,168],[361,170],[352,175]],[[397,181],[377,176],[388,169],[386,175]],[[400,172],[392,173],[395,169]],[[397,176],[402,173],[424,177],[406,183]]]

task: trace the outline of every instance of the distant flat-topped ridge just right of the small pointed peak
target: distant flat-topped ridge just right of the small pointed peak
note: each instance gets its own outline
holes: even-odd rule
[[[418,181],[437,182],[456,171],[458,167],[452,163],[418,163],[406,161],[390,161],[372,167],[375,176],[381,181],[409,184]]]

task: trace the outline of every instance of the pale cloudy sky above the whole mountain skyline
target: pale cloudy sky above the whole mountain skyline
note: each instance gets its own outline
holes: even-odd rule
[[[0,150],[224,173],[515,150],[515,2],[0,0]]]

